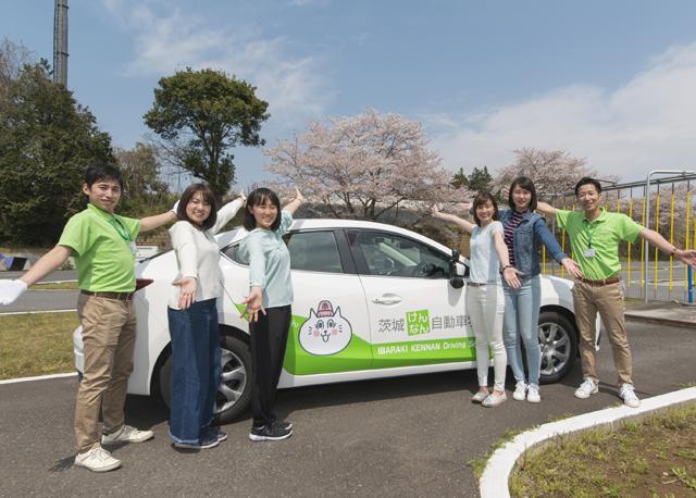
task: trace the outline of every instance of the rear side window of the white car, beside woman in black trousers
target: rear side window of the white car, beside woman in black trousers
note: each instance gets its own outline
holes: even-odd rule
[[[333,232],[296,232],[285,237],[290,251],[290,269],[307,272],[343,273]]]

